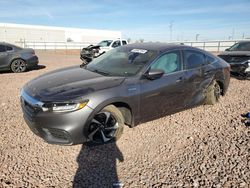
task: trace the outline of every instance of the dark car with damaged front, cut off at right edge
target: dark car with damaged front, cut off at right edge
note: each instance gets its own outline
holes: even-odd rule
[[[250,41],[241,41],[218,55],[231,65],[231,73],[250,77]]]

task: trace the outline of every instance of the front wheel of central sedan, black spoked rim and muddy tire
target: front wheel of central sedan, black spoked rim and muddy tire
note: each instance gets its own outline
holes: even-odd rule
[[[124,117],[114,105],[95,114],[87,127],[87,145],[100,145],[117,141],[124,129]]]

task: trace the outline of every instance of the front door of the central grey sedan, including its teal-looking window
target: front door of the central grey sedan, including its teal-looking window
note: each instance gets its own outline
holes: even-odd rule
[[[187,89],[179,50],[163,54],[151,65],[150,69],[161,69],[165,74],[156,80],[141,80],[142,121],[148,121],[182,108]]]

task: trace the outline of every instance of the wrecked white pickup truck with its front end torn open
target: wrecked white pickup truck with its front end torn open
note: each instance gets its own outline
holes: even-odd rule
[[[97,45],[89,45],[88,47],[83,48],[80,53],[80,59],[86,64],[113,48],[127,44],[127,40],[124,39],[103,40]]]

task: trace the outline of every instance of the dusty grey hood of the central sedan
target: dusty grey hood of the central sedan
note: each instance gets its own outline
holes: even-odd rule
[[[107,77],[78,67],[70,67],[39,76],[24,86],[30,96],[43,102],[69,101],[120,85],[125,78]]]

